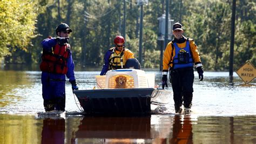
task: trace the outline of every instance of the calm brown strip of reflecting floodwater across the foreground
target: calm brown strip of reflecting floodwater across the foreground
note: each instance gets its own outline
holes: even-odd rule
[[[0,114],[0,143],[255,143],[256,116]]]

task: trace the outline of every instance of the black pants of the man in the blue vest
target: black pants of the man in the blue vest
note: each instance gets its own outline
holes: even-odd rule
[[[182,105],[191,108],[193,97],[194,70],[193,68],[177,68],[170,71],[170,81],[173,90],[174,106]]]

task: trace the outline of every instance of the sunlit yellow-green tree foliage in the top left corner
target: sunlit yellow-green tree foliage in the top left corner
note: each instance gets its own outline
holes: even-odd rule
[[[17,50],[28,52],[31,38],[35,37],[36,2],[0,2],[0,57]]]

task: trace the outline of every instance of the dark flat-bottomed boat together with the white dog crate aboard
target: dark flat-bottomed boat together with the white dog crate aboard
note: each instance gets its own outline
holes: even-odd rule
[[[97,88],[73,91],[85,114],[150,114],[153,107],[167,105],[172,94],[156,88],[154,74],[143,70],[110,70],[96,81]]]

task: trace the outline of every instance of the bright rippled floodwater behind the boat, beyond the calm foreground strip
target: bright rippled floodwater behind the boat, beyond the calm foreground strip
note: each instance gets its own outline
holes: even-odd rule
[[[2,72],[3,73],[3,72]],[[6,72],[8,73],[8,72]],[[99,72],[76,72],[77,83],[80,90],[91,89],[96,86],[95,75]],[[156,84],[161,85],[161,73],[156,74]],[[0,113],[28,113],[35,114],[44,112],[41,72],[11,72],[2,77],[0,82]],[[10,83],[7,79],[12,79]],[[238,76],[234,77],[234,86],[228,85],[228,72],[205,72],[204,81],[199,81],[195,72],[194,92],[192,101],[192,114],[194,115],[256,115],[256,91],[255,80],[251,85],[241,85],[242,81]],[[5,79],[6,78],[6,79]],[[16,77],[15,77],[16,78]],[[171,84],[167,90],[172,91]],[[71,90],[69,81],[66,81],[66,111],[80,112],[77,99]],[[154,111],[157,114],[173,114],[174,102],[170,95],[170,103],[166,109],[159,108]]]

